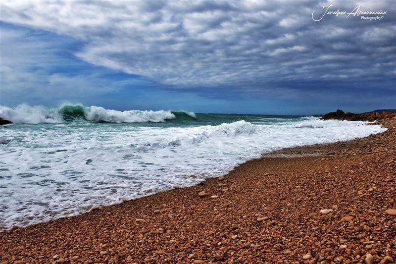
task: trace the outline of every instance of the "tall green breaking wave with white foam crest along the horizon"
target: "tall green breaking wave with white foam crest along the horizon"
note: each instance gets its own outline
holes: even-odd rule
[[[14,108],[0,106],[0,118],[19,124],[60,124],[74,120],[109,123],[165,122],[174,118],[196,118],[188,111],[117,111],[99,106],[64,104],[59,108],[29,106],[22,104]]]

